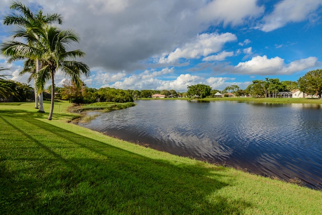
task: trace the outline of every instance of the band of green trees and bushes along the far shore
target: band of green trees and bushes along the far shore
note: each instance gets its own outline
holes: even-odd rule
[[[4,70],[0,68],[0,70]],[[322,93],[322,70],[309,71],[297,82],[279,81],[278,78],[265,80],[254,80],[245,90],[240,89],[237,85],[227,86],[224,90],[212,90],[210,86],[197,84],[187,86],[185,93],[175,90],[122,90],[115,88],[89,88],[84,83],[81,87],[77,87],[71,80],[64,81],[62,87],[54,86],[54,98],[68,100],[71,103],[89,104],[94,102],[132,102],[138,98],[151,98],[153,94],[162,94],[166,97],[215,97],[217,92],[229,96],[232,93],[236,97],[252,96],[252,97],[274,97],[279,92],[290,92],[299,89],[307,95],[317,94],[321,97]],[[46,90],[51,94],[52,86]],[[0,98],[13,98],[12,101],[27,101],[32,98],[31,92],[33,88],[27,84],[21,84],[11,80],[5,80],[5,76],[0,76]],[[51,98],[51,97],[50,97]]]

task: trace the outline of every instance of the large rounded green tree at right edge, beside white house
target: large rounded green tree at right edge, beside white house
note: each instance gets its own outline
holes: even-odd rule
[[[299,89],[306,94],[317,93],[318,98],[322,94],[322,69],[308,71],[303,77],[298,79]]]

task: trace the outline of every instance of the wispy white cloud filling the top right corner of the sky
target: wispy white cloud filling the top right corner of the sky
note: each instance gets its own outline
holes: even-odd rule
[[[289,22],[301,22],[322,5],[322,0],[284,0],[277,3],[274,11],[263,18],[262,31],[269,32],[285,26]]]

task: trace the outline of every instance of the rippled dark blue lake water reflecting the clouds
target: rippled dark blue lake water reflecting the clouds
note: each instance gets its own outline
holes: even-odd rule
[[[176,155],[299,178],[322,189],[320,105],[140,100],[81,125]]]

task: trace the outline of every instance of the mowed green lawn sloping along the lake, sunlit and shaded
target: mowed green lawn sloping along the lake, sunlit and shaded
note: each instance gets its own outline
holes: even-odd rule
[[[56,104],[55,104],[56,105]],[[0,214],[320,214],[322,192],[0,104]],[[56,105],[58,106],[58,105]],[[45,104],[45,111],[49,104]]]

